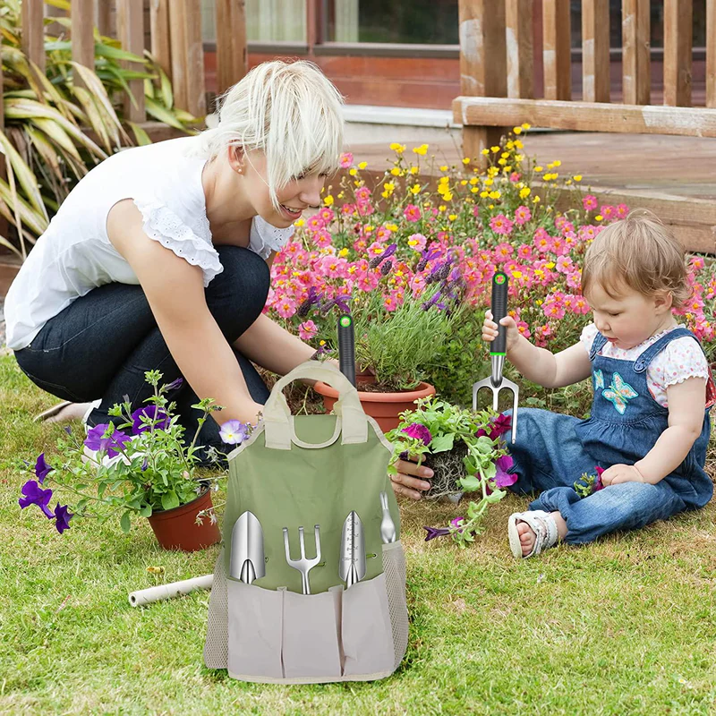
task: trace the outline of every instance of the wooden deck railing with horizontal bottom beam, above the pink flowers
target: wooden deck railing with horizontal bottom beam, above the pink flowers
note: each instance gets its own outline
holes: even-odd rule
[[[706,0],[706,107],[692,107],[693,0],[664,2],[664,104],[652,105],[649,0],[622,0],[624,103],[609,100],[609,0],[582,0],[581,101],[571,101],[569,0],[460,0],[465,156],[500,127],[716,137],[716,0]],[[533,95],[533,12],[541,6],[544,97]]]

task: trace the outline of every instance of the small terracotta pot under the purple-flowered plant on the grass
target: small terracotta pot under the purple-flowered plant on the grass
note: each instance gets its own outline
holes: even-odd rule
[[[203,550],[221,540],[218,525],[211,524],[209,517],[203,517],[202,524],[196,524],[197,513],[209,507],[211,490],[207,487],[197,499],[186,505],[155,512],[149,517],[149,524],[165,550]]]

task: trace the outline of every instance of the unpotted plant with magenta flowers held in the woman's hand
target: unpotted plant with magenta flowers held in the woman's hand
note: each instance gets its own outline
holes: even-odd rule
[[[510,427],[504,413],[468,410],[433,396],[401,414],[400,424],[387,436],[394,445],[389,472],[396,473],[397,459],[412,459],[434,473],[426,498],[457,494],[459,499],[464,492],[479,497],[470,501],[465,516],[454,518],[447,527],[425,527],[426,541],[449,534],[465,547],[482,532],[485,511],[505,496],[501,488],[517,479],[507,472],[513,460],[500,438]]]

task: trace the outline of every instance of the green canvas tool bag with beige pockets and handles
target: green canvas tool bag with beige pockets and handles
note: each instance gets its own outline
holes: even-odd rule
[[[330,415],[290,413],[283,390],[295,379],[322,380],[339,399]],[[257,430],[229,455],[223,546],[214,570],[204,661],[209,669],[266,683],[322,683],[385,678],[405,655],[405,555],[399,540],[384,544],[380,493],[388,493],[399,537],[400,516],[387,467],[392,446],[362,410],[358,393],[332,365],[309,361],[280,379]],[[252,584],[232,578],[234,524],[250,510],[263,533],[265,575]],[[360,516],[366,572],[347,589],[339,575],[345,517]],[[283,529],[298,555],[321,561],[302,575],[286,562]]]

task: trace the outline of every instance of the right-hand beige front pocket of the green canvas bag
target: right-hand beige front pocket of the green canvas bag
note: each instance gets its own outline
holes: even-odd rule
[[[395,648],[385,574],[356,582],[343,592],[342,636],[345,677],[393,671]]]

